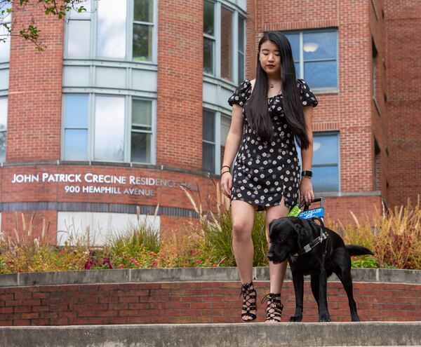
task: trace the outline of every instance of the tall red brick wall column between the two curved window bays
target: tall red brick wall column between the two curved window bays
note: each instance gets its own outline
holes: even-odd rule
[[[159,1],[156,163],[202,168],[203,1]]]

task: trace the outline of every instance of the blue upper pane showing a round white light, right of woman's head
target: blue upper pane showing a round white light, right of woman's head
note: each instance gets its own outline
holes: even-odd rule
[[[304,60],[336,59],[336,32],[309,32],[303,34]]]

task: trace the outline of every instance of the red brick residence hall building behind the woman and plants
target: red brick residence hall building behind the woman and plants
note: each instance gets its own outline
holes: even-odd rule
[[[101,243],[136,212],[161,232],[182,227],[194,211],[180,186],[204,207],[215,195],[227,98],[254,78],[266,30],[288,36],[297,75],[319,99],[313,182],[328,216],[347,222],[349,210],[370,215],[420,193],[417,1],[85,7],[65,21],[36,7],[15,13],[17,27],[36,19],[44,52],[17,36],[0,44],[4,233],[26,230],[34,212],[34,232],[53,243],[88,226]]]

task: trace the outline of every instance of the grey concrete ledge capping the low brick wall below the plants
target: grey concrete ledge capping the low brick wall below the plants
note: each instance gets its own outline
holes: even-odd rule
[[[269,280],[269,268],[253,268],[254,280]],[[354,282],[421,283],[420,270],[353,268]],[[308,279],[308,277],[307,277]],[[236,267],[226,268],[136,268],[116,270],[7,273],[0,275],[0,287],[30,285],[73,285],[89,283],[139,283],[239,280]],[[287,269],[286,280],[292,280]],[[335,275],[330,281],[338,281]]]

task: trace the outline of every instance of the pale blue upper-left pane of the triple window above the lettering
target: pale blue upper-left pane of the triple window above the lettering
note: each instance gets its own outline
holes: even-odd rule
[[[65,128],[88,128],[88,95],[65,95]]]

